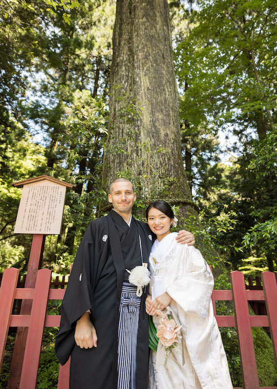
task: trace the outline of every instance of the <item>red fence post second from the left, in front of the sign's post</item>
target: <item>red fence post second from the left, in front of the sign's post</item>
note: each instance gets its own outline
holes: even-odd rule
[[[50,282],[51,270],[37,272],[19,389],[35,389]]]

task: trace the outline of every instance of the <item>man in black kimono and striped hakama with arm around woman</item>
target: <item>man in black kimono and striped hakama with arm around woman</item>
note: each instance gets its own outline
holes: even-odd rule
[[[147,388],[148,288],[137,297],[128,276],[148,264],[155,235],[132,217],[130,181],[115,180],[108,197],[113,209],[90,222],[62,304],[55,349],[62,364],[71,355],[70,389]],[[194,244],[190,232],[179,234],[182,243]]]

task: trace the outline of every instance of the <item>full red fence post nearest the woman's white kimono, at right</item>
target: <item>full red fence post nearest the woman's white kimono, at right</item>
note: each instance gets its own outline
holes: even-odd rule
[[[233,303],[245,389],[260,389],[243,273],[231,272]]]

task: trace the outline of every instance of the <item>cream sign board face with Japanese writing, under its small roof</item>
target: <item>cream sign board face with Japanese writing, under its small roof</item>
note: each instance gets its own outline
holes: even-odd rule
[[[16,234],[60,234],[66,186],[48,180],[25,184],[14,227]]]

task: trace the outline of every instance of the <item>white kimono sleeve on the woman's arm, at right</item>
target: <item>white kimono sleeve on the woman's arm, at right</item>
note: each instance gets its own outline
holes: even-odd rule
[[[174,246],[166,291],[186,313],[196,313],[205,319],[214,285],[210,268],[193,246]]]

